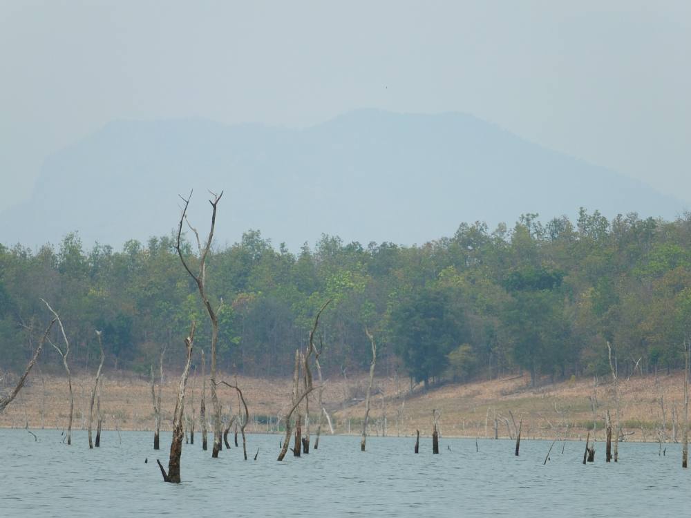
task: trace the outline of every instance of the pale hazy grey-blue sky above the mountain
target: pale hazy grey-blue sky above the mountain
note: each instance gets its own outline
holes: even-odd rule
[[[0,209],[113,119],[462,111],[691,200],[691,2],[0,0]]]

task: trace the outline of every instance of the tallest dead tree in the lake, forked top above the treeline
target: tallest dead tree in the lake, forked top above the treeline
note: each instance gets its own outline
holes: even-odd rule
[[[214,227],[216,227],[216,208],[218,207],[218,202],[223,196],[223,191],[219,195],[211,193],[213,200],[209,200],[212,207],[211,212],[211,228],[209,229],[209,237],[207,238],[204,246],[202,247],[202,242],[199,239],[199,233],[197,230],[189,224],[187,221],[187,207],[189,206],[189,200],[192,197],[192,193],[189,193],[187,199],[182,198],[184,202],[184,207],[182,209],[182,215],[180,216],[180,223],[178,224],[178,239],[176,241],[176,251],[178,251],[178,256],[180,256],[180,261],[182,266],[187,270],[187,273],[194,279],[199,289],[199,295],[202,298],[202,303],[207,309],[209,314],[209,319],[211,320],[211,372],[209,373],[209,378],[211,379],[211,405],[214,407],[214,448],[211,450],[211,457],[218,457],[218,452],[221,449],[221,437],[220,437],[220,403],[218,402],[218,394],[216,394],[216,343],[218,342],[218,317],[216,316],[216,311],[211,307],[211,302],[209,302],[209,297],[207,296],[206,278],[207,278],[207,256],[209,255],[209,250],[211,249],[211,242],[214,240]],[[193,231],[194,236],[197,240],[197,247],[199,250],[199,271],[197,274],[193,274],[187,261],[182,255],[182,247],[180,245],[180,236],[182,235],[182,223],[187,222],[187,226],[191,231]],[[221,302],[223,304],[223,302]]]

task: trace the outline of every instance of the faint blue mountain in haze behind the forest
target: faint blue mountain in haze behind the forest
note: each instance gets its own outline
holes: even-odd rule
[[[674,218],[685,204],[631,178],[550,151],[470,115],[360,110],[303,130],[198,119],[107,124],[44,165],[28,202],[0,215],[0,242],[116,247],[167,234],[178,194],[194,189],[205,229],[207,189],[225,190],[218,242],[259,229],[292,250],[321,233],[422,243],[461,222],[511,225],[578,207],[612,217]]]

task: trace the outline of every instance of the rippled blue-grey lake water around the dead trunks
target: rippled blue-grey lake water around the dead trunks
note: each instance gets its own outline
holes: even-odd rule
[[[681,469],[681,445],[623,443],[619,463],[583,466],[585,443],[322,437],[319,450],[277,462],[276,435],[249,435],[240,448],[211,459],[198,444],[183,445],[182,483],[164,483],[170,434],[153,450],[151,432],[104,432],[89,450],[86,432],[66,446],[59,431],[0,430],[0,517],[613,517],[685,515],[691,470]],[[314,437],[313,437],[314,440]],[[121,442],[122,441],[122,442]],[[253,461],[260,448],[257,461]],[[451,448],[451,450],[448,450]],[[149,463],[144,463],[148,458]]]

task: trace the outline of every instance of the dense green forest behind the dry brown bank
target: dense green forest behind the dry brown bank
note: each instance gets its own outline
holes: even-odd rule
[[[73,363],[93,365],[103,330],[108,368],[149,371],[161,347],[175,365],[190,320],[208,347],[208,318],[174,237],[84,249],[70,234],[35,253],[0,245],[0,370],[19,370],[50,320],[61,314]],[[196,250],[187,242],[193,261]],[[522,215],[493,231],[461,224],[422,246],[345,243],[322,236],[293,254],[259,231],[217,247],[207,289],[220,307],[219,363],[229,372],[290,372],[322,316],[323,365],[332,375],[370,361],[367,325],[379,343],[377,370],[417,381],[464,381],[524,370],[564,378],[604,374],[612,344],[620,372],[683,365],[691,336],[691,214],[674,221],[607,220],[597,211],[540,222]],[[33,332],[30,332],[30,328]],[[33,337],[33,338],[31,338]],[[58,357],[44,349],[41,367]]]

